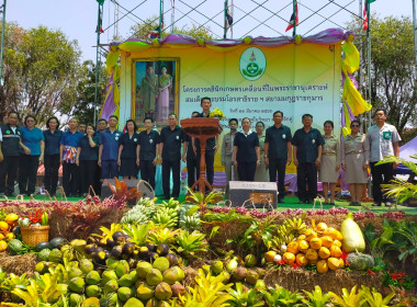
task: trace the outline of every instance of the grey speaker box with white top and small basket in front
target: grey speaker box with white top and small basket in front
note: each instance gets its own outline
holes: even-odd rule
[[[277,208],[278,190],[275,182],[229,181],[232,206],[252,204],[258,208]]]

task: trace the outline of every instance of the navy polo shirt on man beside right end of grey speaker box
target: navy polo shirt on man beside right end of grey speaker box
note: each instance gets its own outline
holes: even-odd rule
[[[286,144],[291,143],[291,129],[288,126],[281,125],[281,127],[277,128],[273,125],[269,127],[264,134],[264,143],[269,144],[268,158],[288,159],[289,151]]]

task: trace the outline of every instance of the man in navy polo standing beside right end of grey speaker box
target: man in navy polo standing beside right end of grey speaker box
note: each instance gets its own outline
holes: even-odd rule
[[[266,132],[264,138],[264,164],[269,167],[269,181],[277,182],[279,203],[284,203],[285,196],[285,166],[291,164],[291,129],[282,125],[284,113],[275,111],[273,113],[274,125]]]

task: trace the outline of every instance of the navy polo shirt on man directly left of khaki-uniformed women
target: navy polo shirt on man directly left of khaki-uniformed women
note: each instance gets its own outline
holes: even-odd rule
[[[318,157],[318,146],[325,140],[319,130],[311,128],[308,133],[304,128],[297,129],[292,144],[297,147],[296,159],[300,163],[314,163]]]

